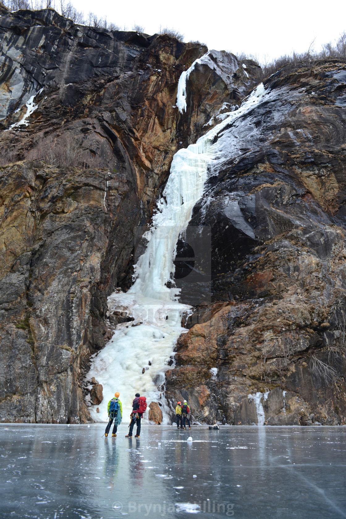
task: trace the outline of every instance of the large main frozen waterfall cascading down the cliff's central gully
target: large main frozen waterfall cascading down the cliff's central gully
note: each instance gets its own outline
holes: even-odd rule
[[[257,104],[264,93],[263,85],[259,85],[239,110],[230,112],[196,144],[174,155],[163,197],[146,234],[146,251],[135,265],[135,282],[127,293],[114,292],[108,298],[109,313],[127,311],[134,321],[117,325],[114,336],[94,357],[87,374],[87,379],[94,376],[103,385],[100,413],[95,412],[96,406],[90,408],[96,421],[107,420],[107,402],[119,391],[126,422],[138,391],[146,396],[148,404],[152,400],[161,403],[163,423],[169,422],[162,384],[176,340],[185,331],[181,326],[182,313],[189,308],[178,303],[177,289],[167,287],[174,272],[176,242],[203,194],[207,166],[219,153],[217,143],[212,144],[214,137]]]

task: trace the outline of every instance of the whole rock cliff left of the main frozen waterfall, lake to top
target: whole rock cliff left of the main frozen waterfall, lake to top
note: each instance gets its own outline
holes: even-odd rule
[[[179,76],[206,47],[0,10],[0,139],[20,159],[0,168],[0,420],[86,422],[81,381],[112,336],[106,297],[131,283],[137,227],[174,153],[251,89],[256,66],[247,77],[223,53],[222,77],[197,67],[182,118]],[[27,126],[12,126],[34,94]]]

